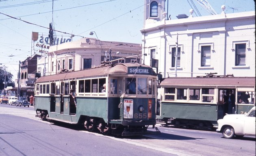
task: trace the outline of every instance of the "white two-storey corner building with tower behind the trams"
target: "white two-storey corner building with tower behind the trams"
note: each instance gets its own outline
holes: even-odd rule
[[[145,3],[142,54],[163,77],[255,76],[255,11],[166,20],[165,0]]]

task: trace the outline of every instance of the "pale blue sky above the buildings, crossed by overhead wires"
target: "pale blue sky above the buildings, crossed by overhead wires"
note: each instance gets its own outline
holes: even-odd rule
[[[191,1],[202,16],[210,15],[196,0],[169,0],[168,16],[173,20],[179,14],[190,15]],[[254,0],[208,3],[217,14],[222,12],[221,5],[226,6],[225,13],[255,11]],[[94,31],[102,41],[142,43],[144,5],[144,0],[0,0],[0,66],[7,67],[13,81],[17,79],[19,61],[40,54],[32,42],[32,32],[46,37],[51,22],[55,30],[74,34],[73,41],[81,36],[96,38],[89,35]],[[66,39],[71,36],[60,32],[56,35]]]

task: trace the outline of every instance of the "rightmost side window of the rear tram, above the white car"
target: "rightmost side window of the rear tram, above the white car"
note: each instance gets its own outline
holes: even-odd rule
[[[238,91],[236,99],[238,104],[254,104],[254,92]]]

